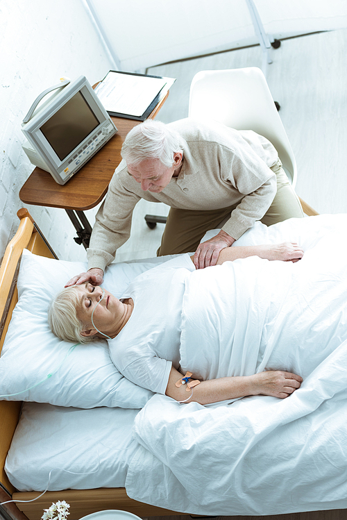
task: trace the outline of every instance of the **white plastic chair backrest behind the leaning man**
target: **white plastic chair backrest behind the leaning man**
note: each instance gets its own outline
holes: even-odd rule
[[[296,160],[261,69],[205,70],[190,86],[189,117],[208,118],[237,130],[253,130],[275,146],[283,168],[296,184]]]

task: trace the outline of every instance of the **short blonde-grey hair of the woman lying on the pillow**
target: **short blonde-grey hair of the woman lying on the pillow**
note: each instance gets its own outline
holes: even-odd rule
[[[95,336],[85,337],[81,335],[88,328],[77,317],[77,308],[80,305],[81,294],[76,285],[66,287],[52,301],[48,311],[48,322],[53,334],[67,342],[88,343]]]

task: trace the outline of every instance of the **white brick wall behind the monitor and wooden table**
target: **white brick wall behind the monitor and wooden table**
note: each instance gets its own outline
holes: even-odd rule
[[[27,207],[59,258],[85,260],[64,210],[24,205],[19,190],[33,171],[22,151],[22,119],[35,97],[60,76],[82,74],[96,83],[110,68],[108,54],[82,0],[0,1],[0,258]]]

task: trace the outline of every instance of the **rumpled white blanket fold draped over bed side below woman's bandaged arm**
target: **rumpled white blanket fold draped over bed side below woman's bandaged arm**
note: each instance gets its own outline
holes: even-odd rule
[[[210,408],[153,396],[135,421],[128,496],[214,516],[347,508],[346,346],[284,401]]]

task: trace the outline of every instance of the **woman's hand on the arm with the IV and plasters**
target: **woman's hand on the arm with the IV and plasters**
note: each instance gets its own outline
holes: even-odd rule
[[[251,384],[254,385],[252,395],[273,396],[280,399],[290,396],[303,383],[301,376],[280,370],[266,370],[250,378]]]

